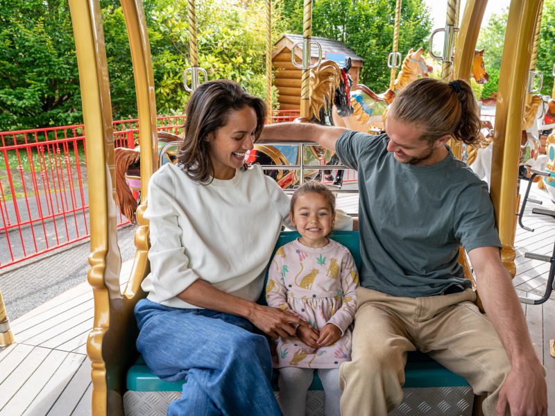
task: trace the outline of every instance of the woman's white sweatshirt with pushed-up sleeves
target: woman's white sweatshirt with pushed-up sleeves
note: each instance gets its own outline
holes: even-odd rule
[[[148,300],[198,308],[176,297],[196,279],[255,302],[266,265],[289,214],[290,198],[259,165],[237,170],[231,180],[194,182],[165,164],[148,183],[151,273],[141,287]],[[337,229],[352,229],[336,217]]]

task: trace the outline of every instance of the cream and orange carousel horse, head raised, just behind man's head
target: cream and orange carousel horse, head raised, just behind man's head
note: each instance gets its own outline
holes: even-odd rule
[[[352,116],[341,116],[333,112],[334,124],[359,132],[369,132],[373,127],[384,130],[384,113],[386,107],[395,98],[395,92],[400,92],[418,76],[428,76],[428,73],[433,70],[422,57],[423,52],[423,48],[409,51],[401,64],[393,88],[387,89],[383,94],[375,94],[364,84],[355,85],[350,97],[353,107]]]

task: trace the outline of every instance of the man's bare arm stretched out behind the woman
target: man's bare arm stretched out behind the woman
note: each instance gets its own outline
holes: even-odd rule
[[[314,123],[275,123],[264,126],[257,143],[314,141],[334,152],[337,139],[345,131],[347,129],[342,127],[327,127]]]

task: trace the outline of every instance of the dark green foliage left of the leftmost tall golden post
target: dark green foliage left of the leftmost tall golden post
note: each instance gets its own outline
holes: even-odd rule
[[[0,0],[0,130],[80,122],[80,107],[67,0]]]

